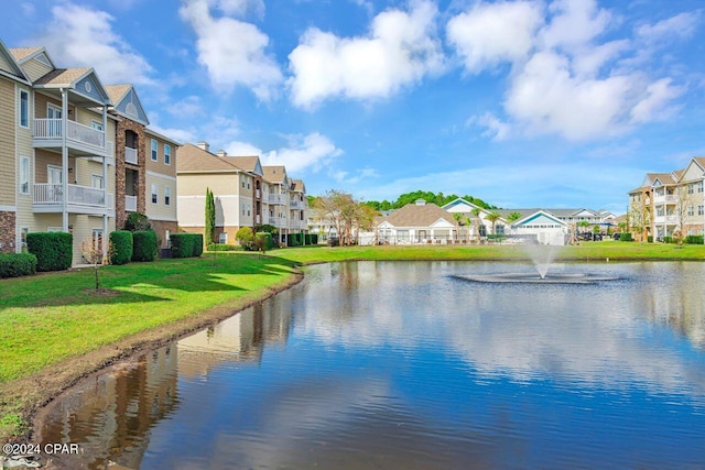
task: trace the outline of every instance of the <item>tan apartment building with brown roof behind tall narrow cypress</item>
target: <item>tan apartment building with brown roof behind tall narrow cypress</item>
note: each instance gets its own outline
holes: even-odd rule
[[[210,152],[209,144],[185,144],[177,165],[178,226],[205,231],[206,189],[214,194],[220,243],[234,244],[241,227],[271,225],[279,242],[289,233],[307,232],[307,199],[302,181],[290,179],[284,166],[262,166],[258,156]]]

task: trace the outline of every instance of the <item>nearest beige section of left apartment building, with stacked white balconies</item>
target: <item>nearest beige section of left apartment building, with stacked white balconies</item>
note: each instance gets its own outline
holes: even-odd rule
[[[66,231],[74,264],[84,241],[107,254],[116,122],[106,88],[93,68],[56,67],[43,47],[0,50],[2,251],[21,251],[32,231]]]

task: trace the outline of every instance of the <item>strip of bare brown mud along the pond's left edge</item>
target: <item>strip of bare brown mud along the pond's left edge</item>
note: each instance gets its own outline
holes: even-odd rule
[[[153,351],[174,340],[202,330],[237,315],[280,292],[303,281],[302,271],[294,271],[283,282],[269,287],[257,298],[236,299],[218,307],[204,310],[195,317],[184,318],[151,330],[142,331],[118,342],[107,345],[86,354],[63,360],[50,368],[0,385],[0,396],[8,404],[19,406],[19,413],[28,428],[20,436],[1,436],[0,441],[32,442],[39,412],[66,390],[82,380],[100,373],[104,369],[130,357]]]

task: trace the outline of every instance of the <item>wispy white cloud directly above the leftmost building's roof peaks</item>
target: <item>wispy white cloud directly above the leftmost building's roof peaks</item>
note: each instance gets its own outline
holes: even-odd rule
[[[52,8],[53,20],[39,39],[69,67],[94,67],[104,84],[153,84],[151,65],[112,30],[115,18],[74,3]]]

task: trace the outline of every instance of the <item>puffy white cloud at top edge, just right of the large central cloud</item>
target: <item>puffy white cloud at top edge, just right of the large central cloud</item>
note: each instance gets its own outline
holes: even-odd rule
[[[538,2],[477,3],[448,21],[447,35],[463,57],[465,69],[479,73],[501,62],[525,58],[542,23]]]

